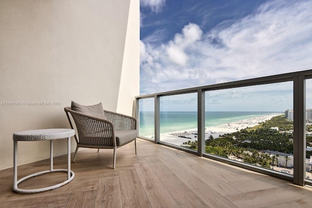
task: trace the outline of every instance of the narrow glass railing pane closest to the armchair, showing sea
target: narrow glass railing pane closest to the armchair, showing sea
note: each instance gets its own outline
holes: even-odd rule
[[[154,139],[155,137],[154,98],[139,100],[139,135]]]

